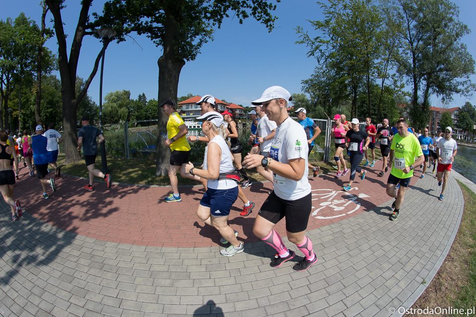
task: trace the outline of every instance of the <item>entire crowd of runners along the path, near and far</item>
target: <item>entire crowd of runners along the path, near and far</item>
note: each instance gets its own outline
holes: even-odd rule
[[[182,177],[201,182],[205,194],[196,214],[204,223],[219,231],[222,244],[230,244],[220,254],[233,256],[243,252],[244,244],[238,241],[238,231],[228,224],[228,216],[238,198],[243,203],[241,216],[247,216],[253,211],[255,204],[248,200],[243,189],[251,185],[246,169],[256,168],[260,175],[273,183],[273,189],[258,211],[253,234],[276,250],[276,256],[270,265],[279,267],[296,257],[295,252],[286,247],[281,235],[274,229],[285,218],[288,240],[304,255],[293,266],[295,270],[301,271],[316,263],[317,259],[312,241],[306,236],[306,229],[312,208],[309,169],[312,170],[312,176],[316,177],[319,167],[310,164],[308,157],[321,130],[314,120],[307,117],[307,111],[303,107],[295,111],[298,121],[290,118],[287,110],[290,101],[292,97],[286,89],[272,86],[259,99],[251,102],[254,107],[249,112],[252,120],[248,138],[251,150],[244,154],[244,158],[234,114],[229,110],[218,112],[213,96],[205,95],[196,103],[201,108],[201,115],[197,118],[202,122],[201,136],[187,137],[188,128],[177,112],[176,103],[172,99],[164,101],[160,107],[168,116],[167,139],[164,142],[171,149],[169,178],[172,187],[172,193],[164,201],[174,203],[182,200],[177,172]],[[110,188],[111,174],[104,174],[94,167],[98,146],[105,140],[102,131],[90,125],[87,116],[81,118],[81,123],[77,149],[80,151],[82,148],[89,172],[89,183],[84,189],[94,189],[95,176],[103,178]],[[444,199],[448,176],[457,154],[451,127],[444,130],[443,136],[438,131],[430,137],[427,128],[422,135],[415,134],[403,117],[393,127],[389,126],[388,119],[383,119],[377,128],[370,117],[365,118],[365,131],[360,130],[359,125],[357,118],[347,121],[344,114],[334,116],[332,134],[336,150],[336,177],[350,172],[349,182],[343,186],[344,191],[351,190],[357,175],[360,180],[364,180],[365,167],[373,167],[376,163],[374,149],[379,144],[382,165],[378,176],[383,177],[390,169],[386,193],[395,199],[390,220],[396,220],[399,216],[416,167],[422,169],[420,178],[424,177],[427,168],[432,166],[433,173],[436,169],[438,186],[441,186],[439,200]],[[60,177],[60,167],[56,164],[58,143],[62,141],[60,133],[53,127],[45,132],[41,125],[36,127],[34,136],[29,136],[27,132],[24,131],[22,136],[16,138],[10,137],[7,131],[0,131],[0,190],[5,202],[10,205],[12,220],[21,216],[20,202],[13,198],[13,185],[15,176],[18,179],[20,158],[30,169],[31,176],[34,176],[36,168],[44,198],[49,197],[46,192],[48,184],[56,191],[55,178]],[[189,142],[207,143],[201,166],[196,167],[189,161]],[[349,155],[349,168],[344,153]],[[365,163],[360,167],[363,158]],[[54,177],[48,176],[49,164],[53,167]]]

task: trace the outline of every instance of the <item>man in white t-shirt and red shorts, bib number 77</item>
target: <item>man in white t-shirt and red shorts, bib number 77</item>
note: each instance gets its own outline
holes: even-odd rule
[[[445,192],[448,176],[450,176],[451,166],[455,160],[456,153],[458,153],[458,145],[456,141],[451,138],[453,129],[446,127],[444,137],[438,142],[436,153],[438,155],[438,166],[436,167],[436,178],[438,178],[438,186],[441,186],[441,193],[439,200],[443,200],[443,193]]]

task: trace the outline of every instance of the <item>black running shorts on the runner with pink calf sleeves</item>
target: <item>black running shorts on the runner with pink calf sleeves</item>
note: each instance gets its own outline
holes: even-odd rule
[[[286,231],[296,233],[306,230],[311,209],[311,193],[297,200],[285,200],[276,196],[273,191],[258,214],[274,224],[286,217]]]

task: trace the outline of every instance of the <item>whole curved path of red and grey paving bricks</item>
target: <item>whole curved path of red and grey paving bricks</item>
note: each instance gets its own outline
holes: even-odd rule
[[[410,307],[441,265],[463,198],[453,177],[444,202],[431,174],[415,177],[392,222],[386,177],[375,175],[350,193],[340,192],[341,179],[311,180],[318,263],[305,272],[271,268],[274,252],[252,236],[269,183],[245,190],[257,204],[249,217],[235,204],[230,223],[245,252],[226,258],[218,233],[196,221],[199,187],[166,204],[168,188],[97,183],[85,193],[83,180],[66,176],[43,200],[38,180],[23,175],[21,221],[1,204],[0,315],[390,316],[390,307]]]

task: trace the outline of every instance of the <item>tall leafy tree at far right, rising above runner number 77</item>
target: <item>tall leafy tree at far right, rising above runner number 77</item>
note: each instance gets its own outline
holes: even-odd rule
[[[453,94],[469,96],[475,61],[461,40],[470,33],[449,0],[397,0],[396,17],[403,43],[400,71],[412,85],[410,117],[417,129],[429,119],[430,96],[449,101]]]

